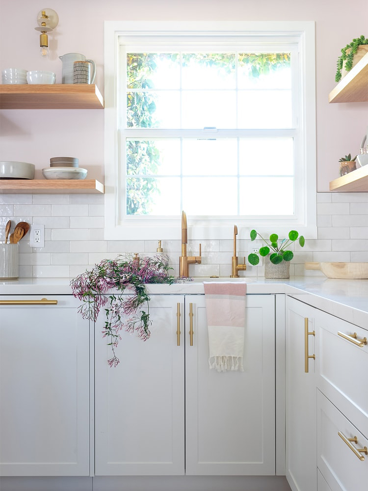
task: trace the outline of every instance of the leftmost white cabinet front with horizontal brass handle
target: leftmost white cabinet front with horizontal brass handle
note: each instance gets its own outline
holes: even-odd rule
[[[89,322],[79,301],[0,300],[0,474],[88,476]]]

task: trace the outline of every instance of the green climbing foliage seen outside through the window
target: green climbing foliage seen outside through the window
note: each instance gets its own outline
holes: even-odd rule
[[[228,74],[235,71],[236,56],[238,56],[239,67],[249,65],[249,75],[256,79],[267,75],[271,70],[290,65],[290,55],[287,53],[239,53],[238,55],[235,53],[186,53],[182,55],[181,62],[183,66],[191,63],[213,66]],[[152,77],[160,57],[164,57],[166,62],[172,63],[173,66],[180,59],[178,53],[127,54],[126,117],[128,128],[158,127],[158,122],[153,117],[156,111],[155,95],[145,89],[155,88]],[[159,152],[154,141],[146,143],[133,139],[127,142],[127,215],[149,214],[155,194],[159,192],[158,181],[154,177],[158,170]]]

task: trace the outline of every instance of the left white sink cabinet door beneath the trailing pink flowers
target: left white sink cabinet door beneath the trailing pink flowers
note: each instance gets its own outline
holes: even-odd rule
[[[150,299],[151,337],[122,331],[115,368],[96,323],[96,476],[184,474],[184,296]]]

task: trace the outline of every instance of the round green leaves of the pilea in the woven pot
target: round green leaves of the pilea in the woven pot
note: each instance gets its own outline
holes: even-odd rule
[[[299,233],[296,230],[290,230],[289,238],[282,239],[280,242],[279,242],[279,236],[277,234],[271,234],[267,242],[265,239],[263,239],[261,234],[256,232],[256,230],[251,230],[250,232],[251,240],[254,241],[257,238],[257,236],[259,236],[266,245],[260,247],[260,250],[257,253],[249,254],[248,261],[251,265],[257,266],[257,264],[260,262],[259,256],[264,257],[267,256],[268,254],[270,254],[269,259],[273,264],[279,264],[282,261],[291,261],[291,259],[294,257],[293,252],[289,250],[287,247],[289,247],[289,245],[295,242],[296,239],[299,237]],[[305,239],[301,235],[299,237],[299,244],[301,247],[304,247],[304,243],[305,243]]]

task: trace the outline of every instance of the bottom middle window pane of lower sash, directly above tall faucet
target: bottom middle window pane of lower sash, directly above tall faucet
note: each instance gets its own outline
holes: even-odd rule
[[[237,179],[184,177],[183,209],[190,215],[237,215]]]

